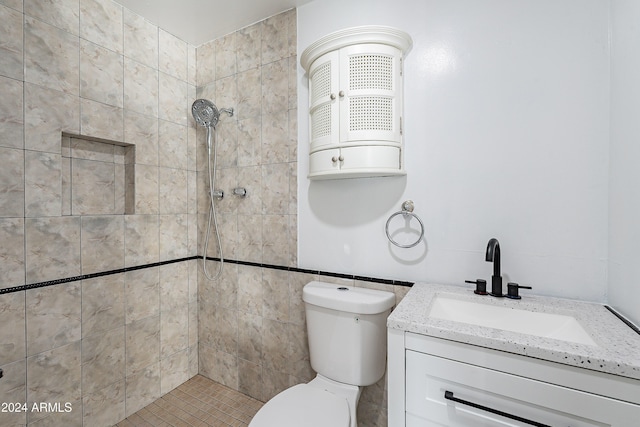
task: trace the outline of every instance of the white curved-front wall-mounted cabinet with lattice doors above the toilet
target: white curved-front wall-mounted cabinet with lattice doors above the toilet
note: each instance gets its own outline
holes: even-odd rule
[[[309,46],[309,178],[404,175],[402,61],[408,34],[356,27]]]

